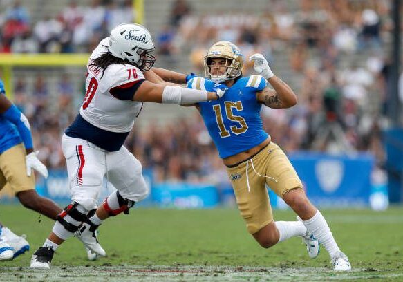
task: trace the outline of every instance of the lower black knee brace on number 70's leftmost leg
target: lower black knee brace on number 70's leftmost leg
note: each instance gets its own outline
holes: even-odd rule
[[[88,210],[84,207],[80,207],[79,203],[71,203],[63,209],[63,211],[57,215],[57,222],[60,223],[66,231],[74,233],[77,231],[79,225],[81,225],[88,216]],[[58,230],[57,233],[64,233]]]

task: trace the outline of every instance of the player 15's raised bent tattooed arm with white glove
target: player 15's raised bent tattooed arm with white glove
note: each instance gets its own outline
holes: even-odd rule
[[[254,62],[254,70],[256,73],[261,74],[274,88],[270,89],[266,86],[262,91],[256,93],[256,98],[259,102],[275,109],[290,108],[297,104],[297,95],[295,95],[288,84],[273,74],[268,61],[263,55],[254,54],[250,57],[250,60]]]

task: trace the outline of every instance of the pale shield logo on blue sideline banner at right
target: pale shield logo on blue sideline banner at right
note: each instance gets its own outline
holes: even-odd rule
[[[332,193],[343,180],[344,164],[339,160],[321,160],[315,166],[315,174],[321,189]]]

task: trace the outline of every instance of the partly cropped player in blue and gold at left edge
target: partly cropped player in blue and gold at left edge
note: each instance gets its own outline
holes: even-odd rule
[[[62,209],[35,191],[32,169],[45,178],[48,170],[34,152],[30,124],[5,94],[0,79],[0,190],[8,185],[24,207],[56,220]],[[12,248],[11,258],[24,254],[30,247],[23,236],[17,236],[0,223],[0,259],[10,259],[6,245]]]

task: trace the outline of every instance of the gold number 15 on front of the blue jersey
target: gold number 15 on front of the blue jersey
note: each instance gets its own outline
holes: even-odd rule
[[[239,135],[247,131],[247,124],[246,121],[241,115],[234,115],[232,113],[232,109],[236,109],[236,111],[243,111],[243,106],[241,101],[231,102],[225,101],[225,113],[227,115],[227,119],[231,120],[232,122],[237,122],[238,125],[229,126],[229,129],[232,133]],[[231,135],[228,129],[225,128],[223,122],[223,114],[221,113],[221,105],[216,104],[213,106],[214,113],[216,113],[216,121],[218,124],[218,129],[220,129],[220,136],[221,138],[228,137]]]

